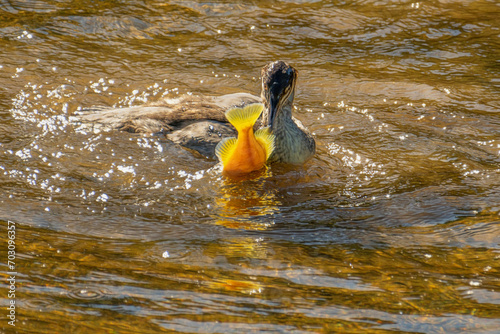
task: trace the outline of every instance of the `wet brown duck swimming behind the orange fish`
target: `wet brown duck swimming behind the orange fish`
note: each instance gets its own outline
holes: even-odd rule
[[[316,142],[308,129],[292,115],[298,71],[284,61],[274,61],[261,70],[261,96],[234,93],[222,96],[186,95],[176,99],[125,108],[90,107],[76,116],[83,126],[132,133],[163,134],[168,140],[212,158],[215,147],[237,135],[225,113],[262,103],[256,130],[268,128],[274,148],[267,163],[301,165],[310,160]]]

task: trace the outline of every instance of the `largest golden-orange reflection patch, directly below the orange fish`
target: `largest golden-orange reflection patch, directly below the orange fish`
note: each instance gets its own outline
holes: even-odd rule
[[[267,168],[249,174],[224,176],[219,197],[217,224],[233,229],[265,230],[274,224],[280,202],[274,189],[266,187]]]

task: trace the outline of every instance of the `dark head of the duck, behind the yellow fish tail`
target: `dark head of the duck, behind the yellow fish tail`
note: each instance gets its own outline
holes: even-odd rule
[[[278,60],[264,66],[261,75],[261,95],[266,107],[262,123],[272,129],[278,113],[283,112],[285,105],[291,106],[293,103],[297,70],[284,61]]]

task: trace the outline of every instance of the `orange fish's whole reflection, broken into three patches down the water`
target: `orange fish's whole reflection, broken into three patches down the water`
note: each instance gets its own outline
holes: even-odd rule
[[[232,230],[263,231],[274,225],[273,215],[281,203],[275,190],[266,186],[267,168],[244,175],[224,175],[217,203],[216,224]],[[260,236],[238,235],[210,245],[205,253],[242,268],[254,261],[267,261],[269,245]],[[223,259],[223,260],[222,260]],[[265,284],[253,275],[218,272],[206,282],[210,289],[245,295],[260,294]]]

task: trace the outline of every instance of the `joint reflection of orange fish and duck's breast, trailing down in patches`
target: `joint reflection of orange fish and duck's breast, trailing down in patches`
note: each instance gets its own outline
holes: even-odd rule
[[[283,189],[307,182],[302,166],[273,164],[272,167],[239,176],[223,176],[217,203],[218,225],[232,230],[256,231],[236,233],[223,242],[212,243],[205,254],[224,265],[240,268],[237,273],[218,272],[206,282],[217,291],[246,295],[262,294],[269,282],[255,271],[257,264],[267,266],[275,250],[267,242],[264,231],[272,229],[275,216],[283,206]]]

